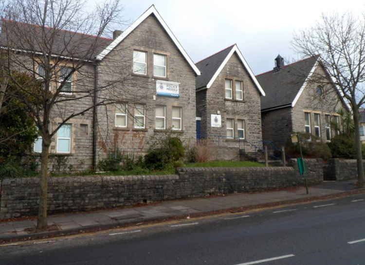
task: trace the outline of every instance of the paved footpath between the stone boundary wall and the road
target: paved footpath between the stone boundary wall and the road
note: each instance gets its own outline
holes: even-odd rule
[[[355,186],[355,181],[323,182],[311,186],[309,191],[309,195],[307,195],[306,189],[299,187],[278,191],[163,201],[144,206],[93,212],[49,215],[48,224],[52,226],[52,229],[40,232],[35,231],[36,218],[13,221],[0,220],[0,243],[145,225],[151,222],[193,218],[225,212],[244,212],[365,193],[365,189],[358,189]]]

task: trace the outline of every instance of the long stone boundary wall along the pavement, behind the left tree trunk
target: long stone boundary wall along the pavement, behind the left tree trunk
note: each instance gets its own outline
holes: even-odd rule
[[[310,166],[313,175],[317,168],[314,165],[315,162]],[[50,178],[48,213],[91,211],[163,200],[284,188],[303,183],[302,177],[293,167],[181,167],[176,173],[161,176]],[[38,200],[38,178],[2,180],[0,219],[37,215]]]

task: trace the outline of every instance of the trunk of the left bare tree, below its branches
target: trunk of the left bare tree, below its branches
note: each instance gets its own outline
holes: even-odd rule
[[[49,156],[50,141],[42,139],[42,153],[40,164],[40,194],[37,229],[47,227],[47,191],[48,191],[48,156]]]

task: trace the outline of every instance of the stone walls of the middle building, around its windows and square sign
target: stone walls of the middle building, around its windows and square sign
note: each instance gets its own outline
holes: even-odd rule
[[[225,99],[225,79],[242,81],[244,100]],[[234,93],[234,92],[233,92]],[[205,102],[203,101],[205,100]],[[246,69],[236,53],[228,60],[217,79],[209,89],[197,92],[198,114],[201,116],[201,132],[216,145],[245,148],[246,151],[256,151],[262,140],[260,94],[252,82]],[[205,108],[205,109],[204,109]],[[221,128],[210,126],[210,115],[220,112]],[[226,139],[226,119],[235,119],[235,138],[237,138],[237,119],[245,121],[245,140],[252,143],[243,145],[242,141]]]

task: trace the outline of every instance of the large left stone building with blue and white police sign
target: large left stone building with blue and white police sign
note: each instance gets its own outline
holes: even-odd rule
[[[25,23],[21,27],[25,33],[41,29]],[[2,30],[1,46],[9,47]],[[52,30],[45,29],[46,33]],[[65,90],[59,97],[65,100],[55,108],[50,129],[56,128],[63,116],[90,110],[67,120],[53,137],[51,170],[57,166],[62,167],[61,171],[95,168],[108,152],[117,149],[128,155],[142,155],[153,137],[167,133],[179,136],[185,143],[195,143],[195,78],[200,71],[153,5],[124,32],[115,31],[113,39],[67,31],[60,31],[59,35],[52,56],[63,60],[65,66],[57,69],[60,74],[55,82],[61,83],[62,76],[74,66],[73,57],[62,52],[74,49],[77,53],[78,48],[87,52],[85,44],[90,43],[96,43],[97,48],[95,54],[90,54],[90,64],[64,78]],[[80,41],[84,46],[76,45]],[[12,46],[16,45],[17,41],[13,42]],[[29,53],[34,56],[33,51]],[[27,56],[24,53],[24,61],[30,58]],[[33,66],[29,67],[35,69],[37,78],[42,78],[44,66],[32,60]],[[82,97],[82,93],[87,96]],[[94,99],[104,100],[110,94],[115,95],[118,104],[93,107]],[[79,95],[80,99],[67,101]],[[41,150],[42,138],[38,137],[33,154],[39,157]]]

